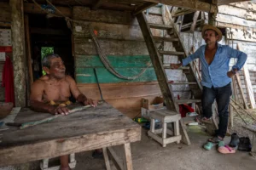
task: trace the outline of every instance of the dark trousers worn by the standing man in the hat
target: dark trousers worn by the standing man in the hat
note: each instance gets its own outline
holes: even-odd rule
[[[218,130],[217,136],[224,138],[229,122],[229,105],[230,95],[232,94],[230,83],[221,88],[207,88],[203,87],[202,93],[202,111],[206,118],[212,117],[212,104],[216,99],[218,105]]]

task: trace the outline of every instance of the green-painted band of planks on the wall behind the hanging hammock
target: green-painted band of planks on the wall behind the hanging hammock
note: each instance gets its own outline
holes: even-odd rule
[[[113,68],[119,74],[125,77],[133,77],[143,71],[144,68],[151,64],[148,55],[137,56],[113,56],[109,55],[108,60]],[[96,83],[96,77],[93,69],[96,68],[96,74],[100,83],[115,83],[115,82],[152,82],[156,81],[154,68],[148,67],[147,71],[135,80],[125,80],[115,77],[109,72],[98,55],[76,55],[76,81],[78,83]]]

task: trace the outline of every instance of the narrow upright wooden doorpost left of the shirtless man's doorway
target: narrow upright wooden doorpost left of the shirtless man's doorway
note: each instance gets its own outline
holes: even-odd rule
[[[34,81],[33,81],[33,72],[32,72],[32,58],[31,58],[31,42],[30,42],[30,32],[29,32],[29,20],[28,20],[27,14],[25,15],[25,30],[26,30],[25,33],[26,33],[26,55],[27,55],[28,76],[29,76],[30,85],[32,85],[32,82],[34,82]]]

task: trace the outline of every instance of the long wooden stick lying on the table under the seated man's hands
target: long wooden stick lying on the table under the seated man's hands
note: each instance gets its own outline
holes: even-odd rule
[[[99,102],[98,104],[102,104],[102,102]],[[84,105],[84,106],[81,106],[81,107],[78,107],[78,108],[74,108],[73,110],[69,111],[69,114],[77,112],[77,111],[83,111],[83,110],[88,109],[90,107],[92,107],[92,106],[91,105]],[[38,124],[42,124],[44,122],[51,122],[51,121],[55,120],[56,118],[58,118],[60,116],[63,116],[63,115],[59,114],[59,115],[55,115],[55,116],[50,116],[50,117],[47,117],[47,118],[44,118],[42,120],[35,121],[35,122],[25,122],[25,123],[21,124],[20,129],[24,129],[26,127],[32,127],[32,126],[35,126],[35,125],[38,125]]]

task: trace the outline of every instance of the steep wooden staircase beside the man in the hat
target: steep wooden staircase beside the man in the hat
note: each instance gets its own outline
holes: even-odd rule
[[[166,101],[167,109],[171,111],[179,112],[178,105],[180,104],[191,104],[191,103],[201,103],[201,83],[200,80],[195,76],[196,71],[191,62],[188,66],[181,67],[179,69],[183,70],[183,73],[186,75],[188,82],[172,82],[168,83],[166,77],[165,69],[169,68],[162,64],[161,58],[162,55],[176,55],[177,58],[181,61],[182,59],[188,57],[187,52],[185,51],[183,41],[179,36],[179,31],[177,26],[172,19],[172,14],[166,5],[162,5],[162,18],[164,25],[157,25],[153,23],[148,23],[145,15],[143,13],[137,14],[137,20],[143,32],[143,37],[147,44],[148,53],[150,55],[152,64],[154,66],[154,71],[156,73],[158,82],[160,84],[160,89],[163,94],[163,97]],[[163,37],[154,37],[151,32],[151,28],[160,29],[164,31]],[[156,48],[155,42],[172,42],[172,46],[175,48],[175,51],[159,50]],[[174,96],[172,86],[179,86],[187,84],[191,90],[193,99],[180,99],[177,100]],[[183,120],[180,121],[181,130],[183,135],[183,142],[190,144],[189,137],[187,135]]]

